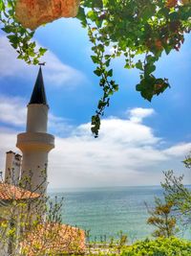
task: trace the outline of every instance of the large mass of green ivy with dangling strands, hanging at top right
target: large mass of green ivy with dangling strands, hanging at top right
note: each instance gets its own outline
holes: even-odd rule
[[[189,0],[83,0],[77,18],[88,28],[93,43],[95,74],[103,96],[98,102],[96,115],[92,118],[92,131],[98,135],[100,117],[110,104],[118,85],[112,79],[112,58],[123,56],[124,68],[138,68],[140,81],[136,88],[141,96],[151,101],[167,87],[167,79],[156,78],[155,62],[162,52],[179,51],[184,33],[191,28]],[[111,50],[112,49],[112,53]],[[138,59],[137,56],[141,58]],[[145,55],[142,60],[142,55]]]

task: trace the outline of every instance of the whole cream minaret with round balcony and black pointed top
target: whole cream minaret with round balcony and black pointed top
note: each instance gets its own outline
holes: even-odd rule
[[[26,189],[39,194],[46,192],[48,153],[54,148],[54,137],[47,133],[48,110],[40,66],[28,105],[26,132],[17,135],[16,144],[23,152],[21,179],[30,178]]]

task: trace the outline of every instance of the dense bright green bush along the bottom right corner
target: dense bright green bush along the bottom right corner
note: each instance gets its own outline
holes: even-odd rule
[[[159,238],[137,242],[125,249],[121,256],[190,256],[191,242],[178,238]]]

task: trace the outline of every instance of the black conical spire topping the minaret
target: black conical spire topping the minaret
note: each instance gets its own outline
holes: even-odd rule
[[[44,81],[42,77],[41,66],[39,68],[38,76],[36,78],[35,85],[33,87],[32,98],[30,100],[29,105],[32,105],[32,104],[47,105],[47,97],[45,93],[45,86],[44,86]]]

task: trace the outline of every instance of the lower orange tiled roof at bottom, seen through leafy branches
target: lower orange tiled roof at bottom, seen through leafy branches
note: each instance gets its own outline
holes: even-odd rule
[[[35,256],[36,248],[42,254],[84,254],[85,231],[66,224],[43,223],[30,231],[21,246],[28,256]]]

